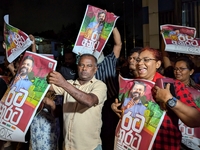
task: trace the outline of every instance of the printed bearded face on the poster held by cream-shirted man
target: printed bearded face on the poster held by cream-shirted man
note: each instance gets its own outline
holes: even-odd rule
[[[28,75],[28,73],[32,71],[32,67],[33,67],[33,61],[31,59],[24,60],[20,68],[20,75],[21,76]]]

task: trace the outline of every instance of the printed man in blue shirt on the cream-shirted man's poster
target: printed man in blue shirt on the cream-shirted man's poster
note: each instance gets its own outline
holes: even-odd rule
[[[34,59],[32,56],[25,56],[22,60],[21,66],[19,67],[18,73],[14,78],[11,88],[16,88],[15,91],[19,92],[20,89],[28,90],[33,84],[29,78],[28,74],[32,71],[34,65]]]

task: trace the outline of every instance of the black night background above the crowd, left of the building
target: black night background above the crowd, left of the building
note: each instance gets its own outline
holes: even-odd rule
[[[120,16],[116,26],[123,41],[122,55],[133,47],[134,39],[134,46],[142,46],[141,0],[0,0],[1,36],[3,16],[9,14],[9,24],[27,34],[73,45],[88,4]],[[110,38],[108,49],[112,44]]]

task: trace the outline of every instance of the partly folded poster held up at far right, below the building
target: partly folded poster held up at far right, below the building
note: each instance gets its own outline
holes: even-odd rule
[[[195,28],[166,24],[160,30],[165,51],[200,55],[200,39],[196,38]]]

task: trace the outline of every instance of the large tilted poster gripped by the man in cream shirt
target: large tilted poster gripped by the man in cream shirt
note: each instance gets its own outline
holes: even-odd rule
[[[26,51],[15,78],[0,101],[0,140],[25,142],[25,134],[50,85],[57,61]]]

